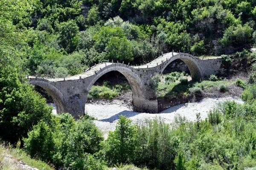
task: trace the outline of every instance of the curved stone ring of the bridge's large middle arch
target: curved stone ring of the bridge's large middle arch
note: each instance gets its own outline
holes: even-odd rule
[[[124,66],[108,66],[107,68],[102,68],[102,71],[97,74],[92,81],[90,82],[90,84],[87,87],[87,91],[89,92],[91,87],[93,86],[93,84],[100,78],[102,77],[104,74],[110,72],[110,71],[118,71],[121,74],[123,74],[125,76],[125,78],[128,80],[130,86],[131,86],[131,90],[132,90],[132,98],[133,98],[133,104],[135,107],[140,106],[141,103],[137,103],[138,99],[145,99],[145,94],[144,94],[144,85],[140,79],[140,77],[138,77],[137,74],[135,74],[129,67],[126,68]],[[87,99],[86,99],[87,100]]]

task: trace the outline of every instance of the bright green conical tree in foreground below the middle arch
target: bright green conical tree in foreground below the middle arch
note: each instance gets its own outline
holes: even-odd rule
[[[119,117],[116,130],[109,133],[103,145],[104,159],[110,165],[134,162],[139,149],[138,126],[125,116]]]

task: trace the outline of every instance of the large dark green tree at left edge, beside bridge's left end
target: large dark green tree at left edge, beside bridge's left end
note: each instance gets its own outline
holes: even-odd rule
[[[52,108],[32,86],[21,83],[17,73],[7,75],[2,70],[0,87],[0,136],[3,140],[17,142],[39,120],[50,118]]]

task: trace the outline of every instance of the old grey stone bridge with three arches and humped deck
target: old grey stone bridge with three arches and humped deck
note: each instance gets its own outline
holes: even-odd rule
[[[55,102],[57,113],[68,112],[75,118],[84,115],[87,94],[102,75],[110,71],[122,73],[131,85],[133,104],[138,111],[157,113],[157,96],[151,88],[151,77],[162,74],[175,59],[181,59],[189,68],[192,79],[206,79],[220,71],[220,59],[198,59],[191,54],[167,53],[141,66],[124,63],[101,63],[87,69],[83,74],[68,78],[44,79],[31,77],[30,83],[44,88]]]

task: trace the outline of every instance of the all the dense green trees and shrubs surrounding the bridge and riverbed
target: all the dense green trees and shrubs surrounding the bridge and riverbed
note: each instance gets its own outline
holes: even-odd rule
[[[253,170],[256,53],[247,49],[255,22],[255,0],[0,0],[0,139],[60,170]],[[26,79],[72,76],[112,59],[140,65],[172,50],[222,55],[227,68],[245,63],[249,78],[234,82],[244,104],[224,102],[205,120],[198,113],[196,122],[177,117],[171,125],[120,116],[104,140],[92,117],[53,115]],[[180,73],[166,77],[160,96],[173,95],[166,86]]]

